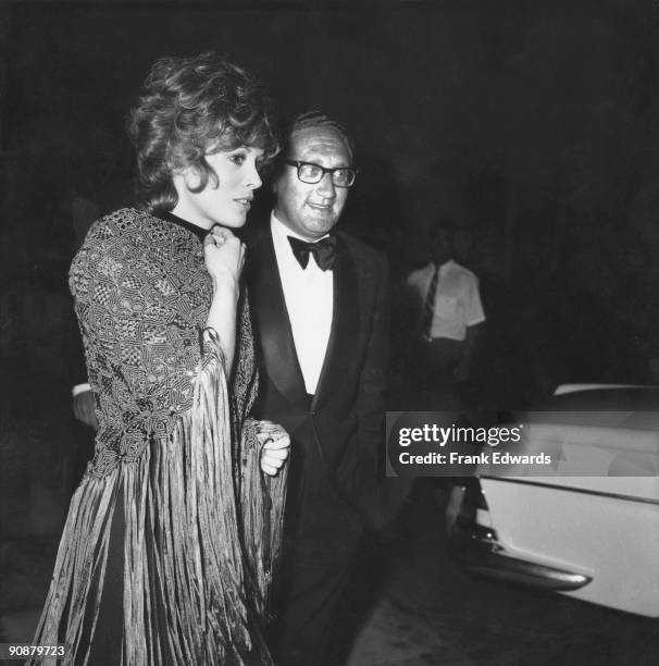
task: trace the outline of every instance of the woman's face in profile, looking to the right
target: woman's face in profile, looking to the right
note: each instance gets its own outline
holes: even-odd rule
[[[253,190],[262,184],[258,171],[262,157],[263,150],[251,146],[207,153],[206,161],[217,175],[217,185],[209,178],[198,193],[189,189],[199,185],[199,173],[194,166],[176,172],[173,180],[178,203],[172,212],[203,229],[215,224],[243,226]]]

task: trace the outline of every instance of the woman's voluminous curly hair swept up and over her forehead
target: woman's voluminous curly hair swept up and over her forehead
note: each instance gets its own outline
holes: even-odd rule
[[[137,152],[137,194],[149,212],[172,210],[178,196],[172,173],[200,174],[201,192],[217,175],[204,155],[254,146],[270,161],[279,150],[271,102],[262,82],[213,51],[161,58],[130,112],[128,134]]]

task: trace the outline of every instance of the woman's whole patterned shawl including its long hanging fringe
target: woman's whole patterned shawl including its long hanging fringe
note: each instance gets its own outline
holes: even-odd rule
[[[271,664],[262,626],[286,473],[260,470],[246,298],[229,388],[203,334],[202,243],[185,223],[102,218],[70,285],[99,430],[35,642],[64,644],[65,664]]]

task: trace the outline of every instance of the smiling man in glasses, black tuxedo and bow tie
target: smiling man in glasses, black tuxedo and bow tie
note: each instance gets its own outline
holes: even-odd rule
[[[344,128],[310,113],[287,139],[246,270],[261,367],[254,416],[291,439],[274,654],[277,665],[318,666],[364,528],[384,522],[387,267],[336,231],[357,174]]]

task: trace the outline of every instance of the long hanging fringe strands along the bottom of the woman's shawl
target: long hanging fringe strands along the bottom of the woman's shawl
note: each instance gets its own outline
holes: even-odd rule
[[[103,479],[86,477],[76,491],[35,642],[65,636],[64,663],[88,663],[83,627],[91,626],[94,641],[112,518],[124,510],[116,663],[272,666],[263,619],[282,541],[285,472],[262,474],[261,445],[248,423],[236,479],[232,436],[224,358],[211,342],[192,409],[173,434]]]

